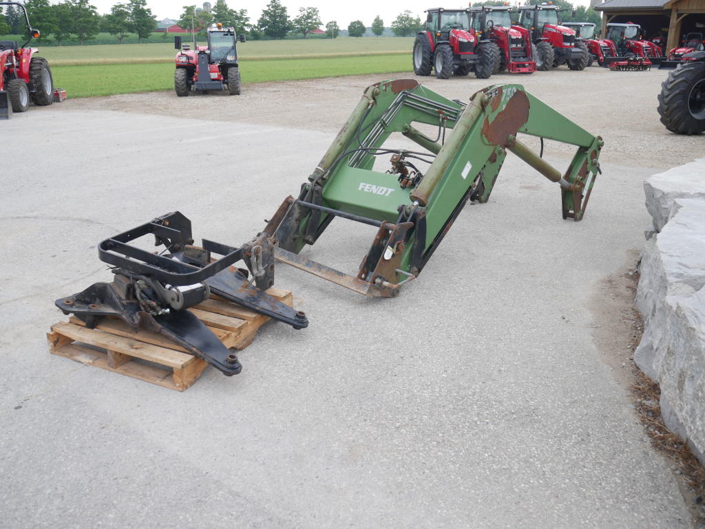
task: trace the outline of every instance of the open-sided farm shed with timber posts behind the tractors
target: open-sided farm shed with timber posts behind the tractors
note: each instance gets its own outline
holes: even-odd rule
[[[705,0],[607,0],[594,9],[603,13],[602,35],[607,23],[632,22],[642,26],[647,39],[668,35],[666,50],[687,33],[705,33]]]

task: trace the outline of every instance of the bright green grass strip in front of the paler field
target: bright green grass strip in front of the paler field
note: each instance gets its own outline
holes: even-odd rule
[[[411,54],[243,61],[243,84],[411,70]],[[172,63],[53,66],[54,84],[69,97],[173,89]]]

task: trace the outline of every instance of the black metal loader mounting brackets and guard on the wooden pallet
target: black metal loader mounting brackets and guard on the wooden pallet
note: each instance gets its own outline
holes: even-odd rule
[[[160,254],[128,244],[149,235],[163,247]],[[190,220],[178,211],[105,239],[99,257],[114,267],[114,280],[57,299],[56,306],[90,329],[112,317],[123,320],[132,332],[157,332],[226,375],[240,373],[238,356],[188,310],[211,294],[295,329],[307,327],[304,313],[264,292],[274,284],[274,247],[267,237],[259,235],[239,248],[207,239],[201,247],[192,244]],[[247,269],[234,268],[238,261]],[[250,273],[252,280],[247,279]]]

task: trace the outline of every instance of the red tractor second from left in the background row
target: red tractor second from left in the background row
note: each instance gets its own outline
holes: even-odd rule
[[[529,30],[512,25],[510,6],[477,6],[472,11],[471,27],[475,35],[494,42],[500,51],[496,72],[534,73],[533,46]]]

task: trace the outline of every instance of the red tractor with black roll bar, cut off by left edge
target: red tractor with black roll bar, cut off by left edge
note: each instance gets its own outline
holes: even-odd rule
[[[2,2],[1,6],[18,6],[25,13],[27,41],[18,46],[12,40],[0,40],[0,118],[9,118],[12,112],[26,112],[30,101],[35,105],[54,102],[54,80],[47,60],[35,56],[37,48],[27,48],[39,31],[32,30],[24,4]]]

